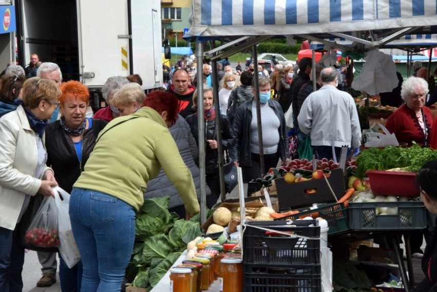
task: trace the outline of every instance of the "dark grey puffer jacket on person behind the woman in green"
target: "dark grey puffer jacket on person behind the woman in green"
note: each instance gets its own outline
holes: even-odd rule
[[[174,142],[176,142],[182,159],[191,171],[194,186],[196,187],[197,198],[200,200],[200,171],[194,162],[197,160],[198,150],[196,141],[191,134],[190,126],[182,116],[178,116],[176,123],[171,126],[169,130]],[[209,196],[210,194],[211,190],[206,186],[206,195]],[[156,178],[147,183],[147,190],[144,193],[144,199],[161,197],[170,197],[170,202],[168,203],[169,208],[184,205],[181,196],[167,178],[163,169],[161,169]]]

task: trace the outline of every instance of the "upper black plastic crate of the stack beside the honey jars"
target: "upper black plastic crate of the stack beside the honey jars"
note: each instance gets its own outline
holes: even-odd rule
[[[291,226],[294,225],[294,226]],[[256,227],[267,228],[266,231]],[[289,232],[295,236],[274,231]],[[320,226],[318,220],[255,221],[246,224],[243,233],[243,263],[320,264]]]

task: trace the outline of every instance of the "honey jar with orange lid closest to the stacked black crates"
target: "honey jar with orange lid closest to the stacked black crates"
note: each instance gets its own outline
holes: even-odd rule
[[[221,292],[243,291],[243,261],[240,259],[222,259],[220,270]]]

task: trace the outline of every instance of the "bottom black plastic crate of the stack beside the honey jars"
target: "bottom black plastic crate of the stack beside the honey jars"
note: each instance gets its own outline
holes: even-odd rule
[[[322,277],[320,265],[244,264],[245,292],[320,292]]]

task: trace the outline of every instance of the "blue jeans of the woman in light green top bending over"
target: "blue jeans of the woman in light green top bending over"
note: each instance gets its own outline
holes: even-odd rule
[[[84,266],[82,291],[120,291],[135,240],[135,210],[106,193],[73,188],[70,220]]]

